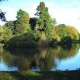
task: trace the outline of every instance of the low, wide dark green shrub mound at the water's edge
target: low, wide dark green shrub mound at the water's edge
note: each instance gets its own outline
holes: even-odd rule
[[[6,48],[35,48],[39,35],[28,31],[26,34],[12,37],[5,45]]]

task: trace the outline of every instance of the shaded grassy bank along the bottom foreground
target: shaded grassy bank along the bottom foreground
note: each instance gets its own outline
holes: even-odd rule
[[[80,70],[0,72],[0,80],[80,80]]]

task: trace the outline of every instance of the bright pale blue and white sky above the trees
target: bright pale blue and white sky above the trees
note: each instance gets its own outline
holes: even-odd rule
[[[80,0],[8,0],[0,3],[0,9],[6,12],[8,21],[16,20],[19,9],[29,13],[30,17],[35,17],[40,2],[45,2],[49,14],[58,24],[74,26],[80,32]]]

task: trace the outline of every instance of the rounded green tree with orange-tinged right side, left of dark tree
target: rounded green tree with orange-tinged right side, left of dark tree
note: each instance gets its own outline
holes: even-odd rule
[[[30,30],[29,25],[29,14],[23,10],[19,10],[17,12],[16,16],[16,27],[15,27],[15,33],[16,34],[23,34],[26,33],[28,30]]]

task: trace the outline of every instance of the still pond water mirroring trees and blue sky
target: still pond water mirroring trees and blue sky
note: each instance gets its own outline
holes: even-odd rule
[[[80,45],[71,48],[5,50],[0,47],[0,71],[54,71],[80,69]]]

